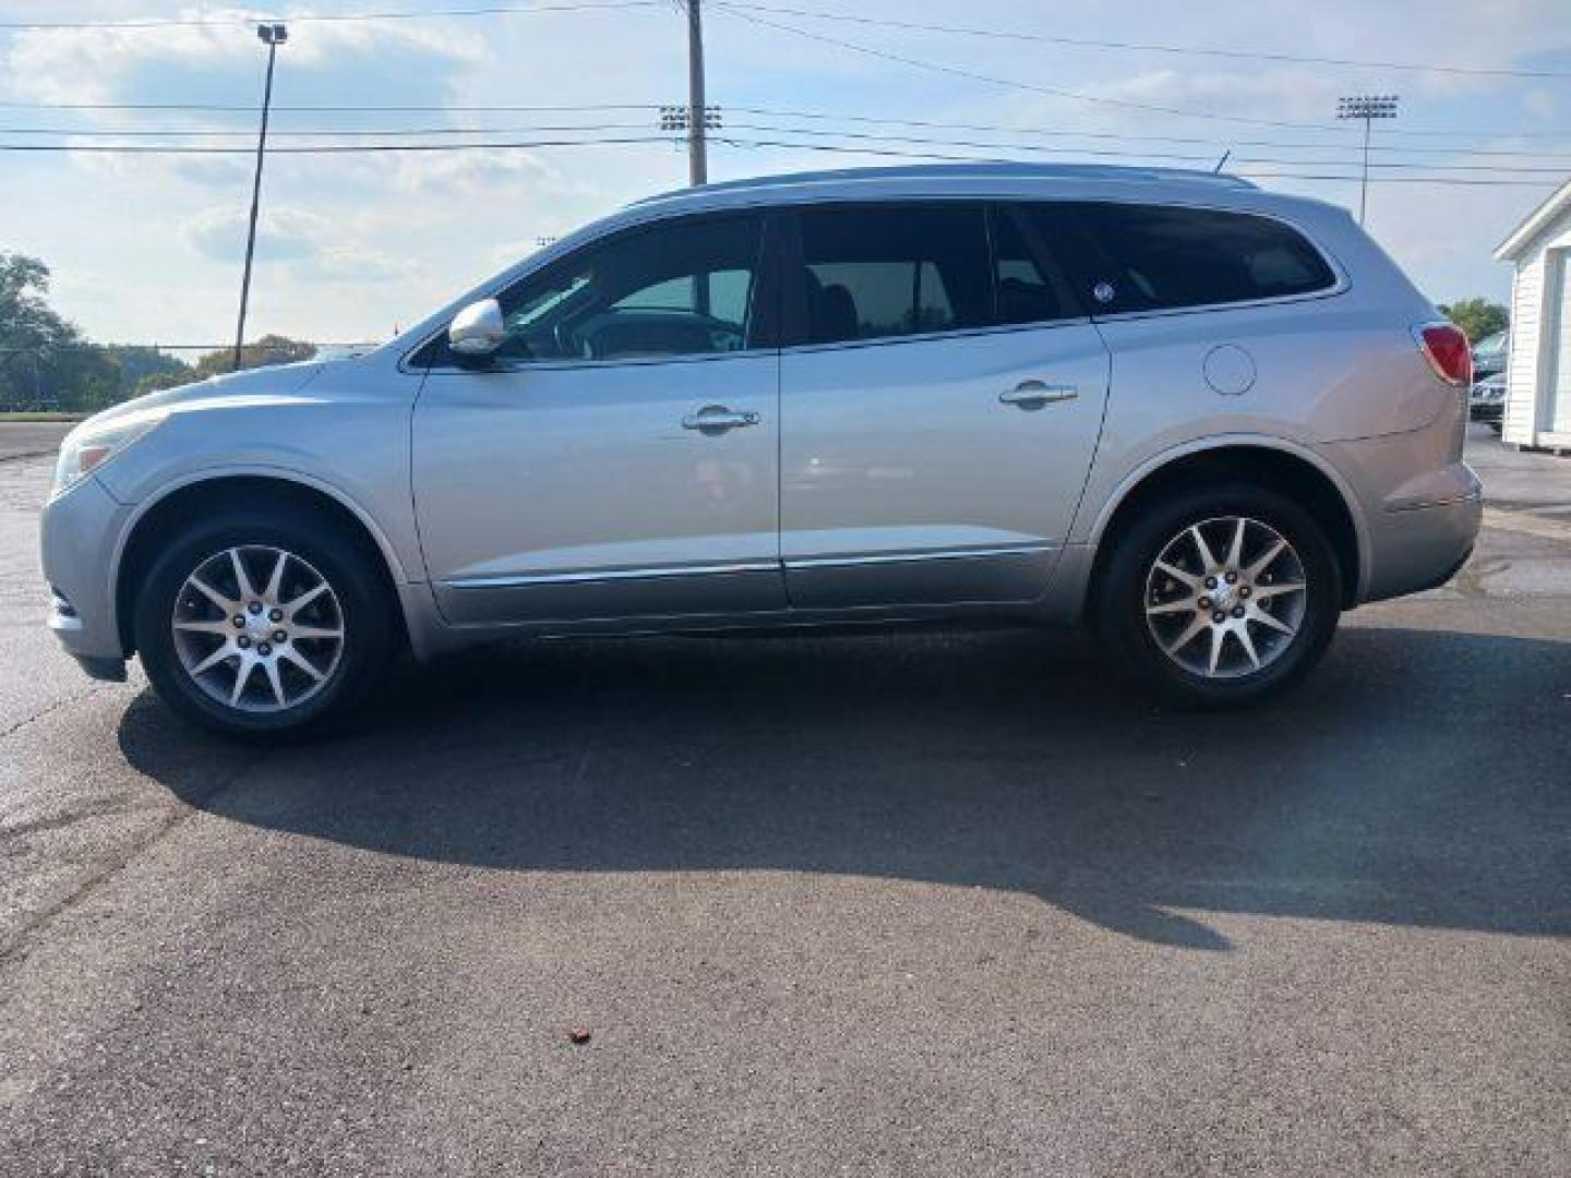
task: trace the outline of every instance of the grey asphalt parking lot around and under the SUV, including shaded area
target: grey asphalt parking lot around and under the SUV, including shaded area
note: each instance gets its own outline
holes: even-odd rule
[[[1078,635],[674,638],[237,748],[55,649],[27,429],[6,1175],[1565,1173],[1571,460],[1475,429],[1469,567],[1247,713]]]

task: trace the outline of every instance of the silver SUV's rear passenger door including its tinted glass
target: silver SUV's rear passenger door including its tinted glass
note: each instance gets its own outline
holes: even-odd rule
[[[792,605],[1040,597],[1109,380],[1042,234],[982,203],[825,204],[787,242]]]

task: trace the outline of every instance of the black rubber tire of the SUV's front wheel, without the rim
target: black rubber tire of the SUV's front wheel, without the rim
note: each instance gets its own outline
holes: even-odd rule
[[[276,712],[245,712],[209,696],[185,671],[171,619],[187,578],[229,548],[281,548],[311,565],[338,598],[342,650],[327,682]],[[179,716],[223,737],[319,735],[344,719],[383,680],[396,646],[396,605],[358,537],[294,504],[226,507],[173,536],[135,600],[141,666],[159,697]]]

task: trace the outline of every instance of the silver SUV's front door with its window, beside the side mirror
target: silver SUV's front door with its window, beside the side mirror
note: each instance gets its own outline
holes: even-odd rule
[[[619,232],[501,292],[506,344],[484,366],[432,346],[413,484],[449,622],[784,608],[765,229]]]

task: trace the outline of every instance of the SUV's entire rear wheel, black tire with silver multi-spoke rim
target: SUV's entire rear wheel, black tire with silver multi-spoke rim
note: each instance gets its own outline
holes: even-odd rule
[[[1249,704],[1320,661],[1342,578],[1324,531],[1263,487],[1196,488],[1114,540],[1095,603],[1125,669],[1183,705]]]

